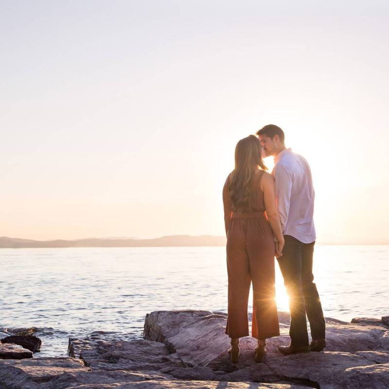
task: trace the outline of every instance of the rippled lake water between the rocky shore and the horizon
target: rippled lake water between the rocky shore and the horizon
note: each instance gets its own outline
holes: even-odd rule
[[[326,317],[389,315],[389,246],[317,245],[314,274]],[[0,249],[0,337],[36,327],[41,356],[66,355],[69,336],[94,331],[140,338],[146,313],[172,309],[226,312],[225,248]]]

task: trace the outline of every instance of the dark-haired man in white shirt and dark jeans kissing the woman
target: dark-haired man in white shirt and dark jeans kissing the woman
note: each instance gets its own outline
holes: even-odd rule
[[[311,169],[303,157],[285,147],[280,127],[265,125],[257,135],[266,156],[274,156],[272,175],[285,238],[278,263],[289,296],[291,342],[279,350],[284,355],[321,351],[326,346],[325,321],[312,274],[316,233]],[[305,314],[311,327],[310,344]]]

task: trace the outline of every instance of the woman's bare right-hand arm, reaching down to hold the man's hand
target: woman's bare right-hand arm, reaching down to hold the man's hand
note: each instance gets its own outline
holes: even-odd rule
[[[262,176],[261,189],[264,192],[265,210],[267,218],[269,219],[270,227],[278,241],[276,243],[276,256],[278,257],[282,255],[284,239],[283,231],[281,229],[280,216],[278,215],[276,205],[274,178],[270,174],[264,173],[264,175]]]

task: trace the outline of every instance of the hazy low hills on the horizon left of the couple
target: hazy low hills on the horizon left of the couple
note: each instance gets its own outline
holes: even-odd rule
[[[87,238],[77,240],[38,241],[0,237],[0,248],[61,248],[61,247],[174,247],[174,246],[225,246],[224,236],[172,235],[155,239]]]

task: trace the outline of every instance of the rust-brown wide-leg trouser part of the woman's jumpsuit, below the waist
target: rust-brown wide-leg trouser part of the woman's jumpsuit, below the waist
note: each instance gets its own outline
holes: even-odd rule
[[[261,216],[258,217],[258,214]],[[248,336],[248,294],[253,286],[252,336],[280,335],[275,301],[275,245],[263,212],[235,212],[227,234],[228,319],[230,338]],[[255,217],[257,216],[257,217]]]

